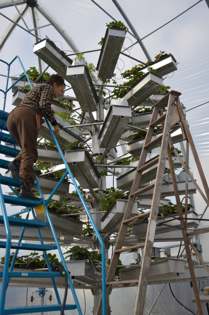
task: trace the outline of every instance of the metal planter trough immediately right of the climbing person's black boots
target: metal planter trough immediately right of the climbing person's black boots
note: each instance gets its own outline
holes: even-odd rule
[[[59,180],[56,178],[50,178],[47,176],[40,176],[38,178],[39,184],[41,186],[41,190],[44,193],[51,193],[56,185],[59,183]],[[69,183],[67,181],[63,181],[62,184],[58,187],[55,194],[60,196],[65,196],[69,192]],[[33,190],[38,191],[37,186],[33,187]]]

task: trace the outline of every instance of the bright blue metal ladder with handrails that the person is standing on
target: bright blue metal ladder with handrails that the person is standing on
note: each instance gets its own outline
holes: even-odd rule
[[[16,56],[12,62],[15,59],[19,59],[19,56]],[[0,60],[2,61],[2,60]],[[3,61],[4,63],[6,63],[5,61]],[[11,63],[12,63],[11,62]],[[10,63],[10,64],[11,64]],[[21,63],[21,61],[20,61]],[[10,69],[10,64],[6,63],[8,65],[8,78],[9,78],[9,69]],[[24,73],[29,81],[29,78],[26,74],[26,71],[21,63],[21,66],[24,70]],[[2,89],[0,89],[0,91],[2,91],[5,95],[5,99],[6,99],[6,95],[7,92],[11,89],[11,87],[8,88],[8,78],[7,78],[7,85],[6,85],[6,90],[3,91]],[[30,81],[29,84],[31,85]],[[4,146],[2,144],[0,144],[0,153],[8,155],[10,157],[15,157],[19,150],[17,150],[15,148],[15,141],[13,139],[13,137],[11,135],[9,135],[7,133],[7,126],[6,126],[6,122],[7,122],[7,118],[9,113],[4,111],[5,109],[5,101],[4,101],[4,106],[3,106],[3,111],[0,111],[0,141],[4,141],[10,144],[13,144],[14,148],[11,147],[7,147]],[[70,304],[70,305],[65,305],[65,310],[72,310],[72,309],[77,309],[78,310],[78,314],[82,315],[82,311],[78,302],[78,298],[76,296],[75,293],[75,289],[73,287],[72,284],[72,280],[70,277],[70,274],[68,272],[67,269],[67,265],[66,262],[64,260],[63,254],[62,254],[62,250],[59,244],[59,241],[56,237],[56,232],[54,230],[52,221],[51,221],[51,217],[49,215],[48,209],[47,209],[47,204],[49,203],[50,199],[52,198],[52,196],[55,194],[56,190],[58,189],[58,187],[61,185],[62,181],[65,179],[66,175],[69,174],[75,188],[76,191],[78,192],[78,196],[83,204],[83,207],[88,215],[89,221],[92,224],[92,227],[94,228],[94,231],[98,237],[99,243],[101,245],[101,252],[102,252],[102,300],[103,300],[103,315],[106,315],[106,283],[105,283],[105,245],[103,243],[103,240],[99,234],[99,231],[92,219],[92,216],[88,210],[88,207],[83,199],[83,196],[78,188],[78,185],[72,175],[72,172],[69,168],[69,165],[67,164],[67,161],[62,153],[62,150],[56,140],[55,135],[52,132],[51,126],[47,120],[47,118],[45,117],[46,123],[50,129],[51,135],[53,137],[54,143],[61,155],[61,158],[63,160],[63,163],[66,166],[66,172],[63,174],[61,180],[59,181],[59,183],[56,185],[56,187],[54,188],[54,190],[51,192],[49,198],[45,201],[43,194],[41,192],[41,188],[38,182],[38,179],[36,177],[36,185],[38,187],[39,193],[40,193],[40,197],[42,201],[34,201],[34,200],[28,200],[28,199],[23,199],[23,198],[19,198],[17,192],[13,189],[13,187],[20,187],[20,182],[18,179],[14,179],[14,178],[10,178],[7,176],[3,176],[0,174],[0,184],[1,185],[8,185],[11,190],[14,192],[14,194],[16,196],[9,196],[9,195],[4,195],[2,192],[2,187],[0,185],[0,203],[1,203],[1,208],[2,208],[2,213],[3,215],[0,215],[0,224],[4,224],[5,226],[5,230],[6,230],[6,235],[7,235],[7,241],[1,241],[0,242],[0,248],[5,248],[6,249],[6,253],[5,253],[5,261],[4,261],[4,270],[3,272],[0,272],[0,277],[2,277],[2,290],[1,290],[1,297],[0,297],[0,314],[1,315],[10,315],[10,314],[24,314],[24,313],[30,313],[30,312],[48,312],[48,311],[59,311],[62,309],[62,302],[60,300],[60,296],[56,287],[56,282],[55,282],[55,278],[56,277],[64,277],[61,273],[57,273],[57,272],[52,272],[51,270],[51,265],[49,262],[49,259],[47,257],[47,251],[49,250],[54,250],[57,249],[62,261],[62,265],[64,268],[64,271],[66,272],[67,275],[67,280],[68,280],[68,284],[71,288],[72,291],[72,295],[74,298],[74,302],[75,304]],[[5,132],[6,131],[6,132]],[[1,143],[1,142],[0,142]],[[0,168],[3,169],[8,169],[8,163],[10,161],[7,161],[5,159],[0,159]],[[7,210],[5,207],[5,203],[9,203],[9,204],[13,204],[13,205],[18,205],[18,206],[24,206],[26,207],[26,210],[21,211],[21,212],[17,212],[14,213],[13,215],[7,215]],[[46,212],[46,217],[48,222],[42,222],[42,221],[37,221],[36,220],[36,215],[35,215],[35,210],[34,207],[39,206],[39,205],[43,205],[45,212]],[[20,219],[20,218],[16,218],[16,215],[19,214],[23,214],[24,212],[27,212],[26,215],[26,219]],[[33,216],[33,220],[29,220],[29,213],[32,213]],[[10,225],[11,226],[21,226],[22,227],[22,232],[20,233],[19,236],[19,240],[18,242],[12,242],[12,234],[11,234],[11,230],[10,230]],[[43,238],[41,236],[41,228],[45,227],[45,226],[49,226],[51,228],[51,232],[53,234],[54,237],[54,241],[55,244],[54,246],[52,245],[45,245],[43,242]],[[24,231],[26,227],[33,227],[37,229],[38,235],[39,235],[39,239],[40,239],[40,245],[34,245],[34,244],[29,244],[29,243],[22,243],[22,239],[24,236]],[[10,256],[10,251],[11,249],[15,249],[15,254],[13,257],[13,261],[11,263],[11,266],[9,268],[9,256]],[[14,264],[15,264],[15,260],[16,257],[18,255],[18,251],[19,249],[25,249],[25,250],[40,250],[43,251],[44,255],[45,255],[45,259],[46,259],[46,265],[48,268],[48,272],[26,272],[26,273],[22,273],[22,272],[14,272],[13,268],[14,268]],[[57,299],[57,304],[54,305],[41,305],[41,306],[22,306],[22,307],[9,307],[9,308],[5,308],[5,298],[6,298],[6,292],[7,292],[7,287],[9,284],[9,280],[12,277],[24,277],[24,278],[31,278],[31,277],[35,277],[35,278],[51,278],[52,284],[53,284],[53,288],[55,290],[55,294],[56,294],[56,299]]]

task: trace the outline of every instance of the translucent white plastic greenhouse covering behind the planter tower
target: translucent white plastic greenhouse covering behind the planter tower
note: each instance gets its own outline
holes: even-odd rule
[[[84,52],[88,63],[97,65],[101,46],[98,45],[106,31],[106,23],[121,20],[128,28],[115,68],[116,81],[122,83],[121,72],[138,65],[140,60],[154,60],[160,51],[171,53],[177,61],[178,70],[163,77],[164,85],[182,93],[180,101],[186,108],[186,118],[200,157],[206,179],[209,178],[209,1],[208,0],[37,0],[37,8],[26,8],[26,0],[0,0],[0,59],[10,62],[19,55],[27,70],[30,66],[38,68],[37,56],[33,53],[36,41],[48,37],[56,46],[75,58],[75,52]],[[19,17],[21,15],[21,17]],[[17,25],[11,30],[13,21],[19,17]],[[37,23],[35,35],[33,20]],[[11,30],[11,31],[9,31]],[[74,55],[73,55],[74,54]],[[136,59],[136,60],[134,60]],[[46,64],[42,62],[42,70]],[[53,70],[47,71],[54,73]],[[11,67],[10,76],[19,75],[22,69],[18,62]],[[7,66],[0,65],[0,89],[5,88]],[[68,83],[67,83],[68,84]],[[113,88],[109,88],[110,90]],[[71,90],[72,91],[72,90]],[[0,92],[1,93],[1,92]],[[72,93],[68,91],[68,93]],[[12,110],[12,93],[8,95],[6,108]],[[1,95],[1,106],[3,99]],[[2,107],[1,107],[2,109]],[[199,180],[196,166],[190,162],[194,178]],[[208,180],[209,183],[209,180]],[[196,212],[201,214],[205,203],[198,201]],[[204,216],[209,219],[208,210]],[[207,224],[207,223],[205,223]],[[208,234],[200,236],[203,259],[209,261]],[[168,284],[167,284],[168,286]],[[181,286],[172,284],[177,299],[190,310],[196,312],[191,303],[192,291],[189,283]],[[161,285],[150,285],[147,289],[145,313],[155,301]],[[32,289],[31,289],[32,290]],[[188,290],[188,293],[187,293]],[[84,313],[83,292],[78,290],[78,297]],[[114,290],[113,290],[114,291]],[[30,293],[28,293],[30,294]],[[62,294],[62,293],[61,293]],[[11,289],[14,303],[21,305],[26,298],[26,289]],[[70,295],[70,294],[69,294]],[[94,297],[86,292],[86,315],[92,313]],[[110,295],[112,314],[133,313],[136,287],[115,289]],[[183,297],[182,297],[183,296]],[[166,297],[166,298],[165,298]],[[10,300],[10,301],[11,301]],[[7,301],[7,303],[8,303]],[[192,305],[194,304],[194,305]],[[175,301],[169,288],[165,288],[153,312],[160,314],[183,314],[186,309]],[[58,312],[54,312],[58,314]],[[74,312],[72,312],[74,314]]]

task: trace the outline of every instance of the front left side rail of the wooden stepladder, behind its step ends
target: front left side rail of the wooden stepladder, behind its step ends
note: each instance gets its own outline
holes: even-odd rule
[[[152,114],[152,117],[151,117],[151,123],[157,119],[158,113],[159,113],[159,111],[154,108],[153,109],[153,114]],[[147,135],[145,137],[145,142],[144,143],[149,143],[151,141],[152,136],[153,136],[153,130],[154,130],[154,127],[153,128],[148,128]],[[148,149],[145,149],[144,146],[143,146],[142,153],[141,153],[141,156],[140,156],[140,160],[139,160],[137,169],[142,167],[145,164],[147,153],[148,153]],[[138,189],[139,184],[140,184],[140,180],[141,180],[141,176],[142,176],[142,172],[137,172],[136,171],[136,174],[135,174],[135,177],[134,177],[134,180],[133,180],[133,184],[132,184],[132,187],[131,187],[131,192],[135,192]],[[130,193],[129,199],[128,199],[127,204],[126,204],[126,209],[125,209],[125,212],[124,212],[124,216],[123,216],[123,221],[125,219],[127,219],[127,217],[131,216],[131,211],[133,209],[134,201],[135,201],[135,196],[131,196],[131,193]],[[123,245],[123,242],[124,242],[124,239],[125,239],[125,235],[126,235],[126,230],[127,230],[127,223],[126,224],[121,224],[120,230],[118,232],[118,237],[117,237],[117,240],[116,240],[116,243],[115,243],[115,250],[122,248],[122,245]],[[110,281],[113,280],[114,275],[115,275],[115,270],[117,268],[118,260],[120,258],[120,253],[119,252],[118,253],[115,252],[115,250],[113,252],[112,259],[110,261],[110,266],[109,266],[109,269],[108,269],[108,272],[107,272],[107,276],[106,276],[106,281],[107,282],[110,282]],[[106,286],[106,293],[107,294],[111,293],[111,286],[108,286],[108,285]],[[99,299],[98,307],[97,307],[97,310],[96,310],[96,315],[102,315],[102,296]]]

